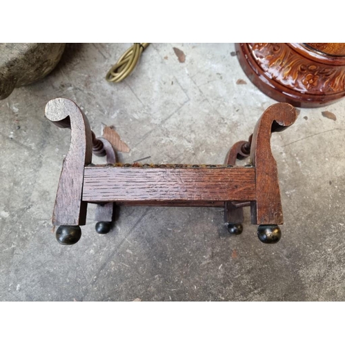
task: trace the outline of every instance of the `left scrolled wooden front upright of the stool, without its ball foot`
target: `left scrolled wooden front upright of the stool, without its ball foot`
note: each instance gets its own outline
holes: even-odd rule
[[[92,135],[88,119],[70,99],[56,98],[46,105],[46,117],[71,129],[70,148],[63,159],[52,215],[53,225],[85,225],[87,203],[81,200],[83,171],[92,159]]]

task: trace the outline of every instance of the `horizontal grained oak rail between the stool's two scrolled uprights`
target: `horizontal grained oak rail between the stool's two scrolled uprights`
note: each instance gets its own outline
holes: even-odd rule
[[[255,200],[254,168],[86,167],[83,201]]]

